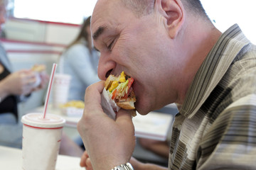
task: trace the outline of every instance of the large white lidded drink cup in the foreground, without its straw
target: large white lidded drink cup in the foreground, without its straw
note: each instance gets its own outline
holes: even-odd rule
[[[23,170],[54,170],[65,119],[59,115],[28,113],[23,123]]]

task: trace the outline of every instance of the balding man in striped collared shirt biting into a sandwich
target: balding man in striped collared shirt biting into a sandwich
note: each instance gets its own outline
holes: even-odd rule
[[[100,79],[133,77],[140,114],[180,106],[169,169],[256,169],[256,47],[238,25],[220,33],[197,0],[99,0],[91,28]],[[78,130],[90,159],[82,165],[165,169],[131,159],[131,116],[121,110],[111,120],[102,112],[103,84],[85,93]]]

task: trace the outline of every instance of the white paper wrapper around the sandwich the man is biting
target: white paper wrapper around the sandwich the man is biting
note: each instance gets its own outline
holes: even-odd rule
[[[101,94],[101,105],[103,111],[112,119],[116,118],[116,112],[119,111],[119,106],[117,106],[114,101],[110,98],[110,96],[107,94],[106,89],[104,88]]]

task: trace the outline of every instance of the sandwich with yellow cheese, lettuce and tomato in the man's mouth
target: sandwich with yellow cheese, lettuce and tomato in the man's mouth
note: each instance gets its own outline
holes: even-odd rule
[[[119,108],[124,108],[132,110],[132,116],[136,115],[134,106],[136,96],[132,89],[133,82],[134,79],[124,74],[124,72],[119,77],[110,74],[105,81],[105,88],[102,91],[103,100],[107,101],[114,113],[117,113]],[[105,109],[103,108],[103,110]],[[112,117],[115,117],[113,113]]]

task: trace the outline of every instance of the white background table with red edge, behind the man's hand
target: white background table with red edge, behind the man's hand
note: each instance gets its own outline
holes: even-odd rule
[[[43,113],[43,109],[44,107],[41,106],[36,108],[33,112]],[[63,118],[65,118],[65,126],[69,127],[69,132],[67,133],[73,135],[72,138],[74,138],[74,135],[78,135],[76,127],[82,115],[68,116],[65,115],[65,113],[63,113],[60,108],[54,108],[52,105],[48,105],[47,111],[48,113],[61,115]],[[140,115],[137,113],[137,116],[132,119],[135,128],[135,135],[137,137],[161,141],[166,140],[169,128],[171,128],[173,120],[174,115],[154,111],[148,113],[147,115]],[[70,127],[75,128],[75,132],[72,132]]]

